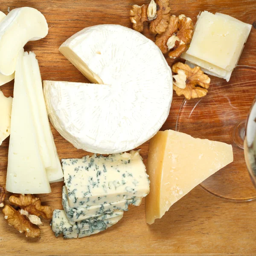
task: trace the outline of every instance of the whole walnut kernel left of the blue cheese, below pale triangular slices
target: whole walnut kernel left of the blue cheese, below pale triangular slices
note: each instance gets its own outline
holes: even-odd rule
[[[26,237],[40,237],[41,231],[38,225],[43,223],[39,217],[51,219],[51,207],[42,206],[40,198],[34,195],[11,195],[9,201],[19,209],[16,210],[10,205],[3,208],[4,218],[8,224],[14,226],[20,233],[25,233]]]

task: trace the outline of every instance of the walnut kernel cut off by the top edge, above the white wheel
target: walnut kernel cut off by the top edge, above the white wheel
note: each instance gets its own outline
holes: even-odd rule
[[[163,33],[169,23],[171,9],[169,0],[151,0],[149,4],[134,5],[130,10],[130,20],[133,29],[143,32],[144,22],[150,23],[149,31],[152,34]]]

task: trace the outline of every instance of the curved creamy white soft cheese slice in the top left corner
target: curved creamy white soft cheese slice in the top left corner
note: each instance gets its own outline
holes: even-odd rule
[[[28,41],[44,38],[48,25],[44,15],[30,7],[13,9],[0,23],[0,73],[15,71],[17,56]]]

